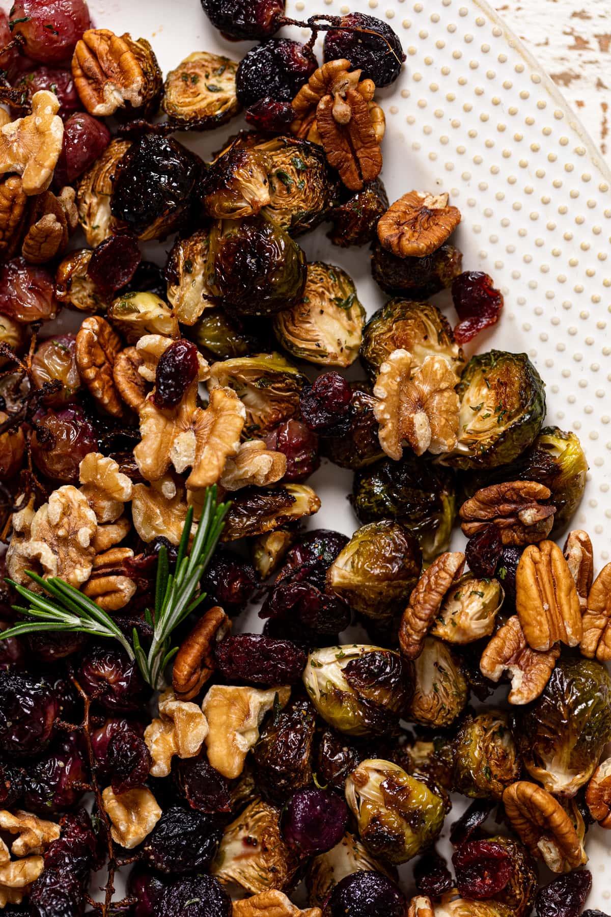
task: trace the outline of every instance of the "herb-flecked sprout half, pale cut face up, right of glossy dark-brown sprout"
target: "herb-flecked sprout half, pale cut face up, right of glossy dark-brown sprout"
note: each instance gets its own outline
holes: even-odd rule
[[[345,369],[358,357],[365,309],[345,271],[313,261],[300,303],[275,315],[273,326],[293,357]]]

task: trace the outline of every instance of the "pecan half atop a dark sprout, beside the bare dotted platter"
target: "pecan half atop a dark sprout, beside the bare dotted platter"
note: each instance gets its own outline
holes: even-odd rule
[[[377,238],[398,258],[422,258],[449,238],[461,221],[448,194],[410,191],[391,204],[377,223]]]

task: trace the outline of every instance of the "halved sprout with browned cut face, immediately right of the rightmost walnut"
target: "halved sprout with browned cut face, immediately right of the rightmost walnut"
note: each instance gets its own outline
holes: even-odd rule
[[[525,353],[490,350],[472,357],[456,390],[458,444],[438,461],[464,470],[518,458],[540,432],[545,387]]]

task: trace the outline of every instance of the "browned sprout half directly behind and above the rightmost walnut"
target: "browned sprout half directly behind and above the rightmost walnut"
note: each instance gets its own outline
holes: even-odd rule
[[[391,299],[371,316],[361,345],[361,359],[371,381],[376,380],[382,363],[398,349],[409,350],[414,360],[412,371],[426,357],[435,355],[447,359],[457,375],[464,367],[463,350],[454,341],[448,320],[432,303]]]

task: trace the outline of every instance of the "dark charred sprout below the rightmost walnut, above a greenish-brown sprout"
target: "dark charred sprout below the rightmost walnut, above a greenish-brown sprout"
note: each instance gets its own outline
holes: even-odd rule
[[[456,496],[453,475],[406,453],[355,474],[350,502],[363,523],[393,519],[418,538],[425,560],[448,546]]]

